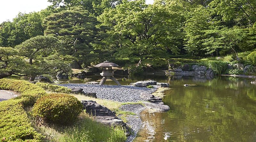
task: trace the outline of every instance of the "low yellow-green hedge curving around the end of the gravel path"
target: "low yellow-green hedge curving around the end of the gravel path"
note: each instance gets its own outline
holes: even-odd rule
[[[23,80],[0,79],[0,89],[19,92],[20,96],[14,99],[22,100],[24,107],[33,106],[36,99],[46,94],[41,87]]]

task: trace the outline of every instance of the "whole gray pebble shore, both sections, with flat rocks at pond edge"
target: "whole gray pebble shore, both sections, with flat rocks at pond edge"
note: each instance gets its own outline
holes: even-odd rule
[[[65,86],[68,88],[82,88],[83,92],[94,92],[98,99],[107,99],[117,102],[139,102],[139,101],[149,101],[141,104],[127,104],[122,105],[119,109],[122,111],[132,112],[136,115],[127,115],[126,124],[131,129],[131,134],[127,137],[126,142],[132,142],[136,137],[138,131],[141,128],[142,122],[140,119],[140,113],[145,108],[155,108],[156,111],[166,111],[169,110],[169,106],[159,103],[162,99],[151,95],[160,86],[152,85],[153,88],[137,87],[131,85],[98,85],[98,84],[59,84],[60,86]],[[168,84],[169,85],[169,84]],[[142,95],[144,94],[144,97]],[[145,94],[146,97],[145,98]],[[155,102],[157,103],[150,103]],[[120,116],[119,116],[120,117]]]

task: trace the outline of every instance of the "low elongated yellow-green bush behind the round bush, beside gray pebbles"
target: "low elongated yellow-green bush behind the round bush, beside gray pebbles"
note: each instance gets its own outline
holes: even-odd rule
[[[53,85],[50,83],[36,83],[36,85],[42,87],[44,90],[51,91],[51,92],[57,92],[57,93],[71,93],[71,89],[68,87],[63,87],[59,85]]]

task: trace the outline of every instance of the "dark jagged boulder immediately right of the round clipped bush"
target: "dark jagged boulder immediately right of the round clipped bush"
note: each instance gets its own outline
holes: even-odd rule
[[[83,109],[86,113],[92,114],[93,116],[115,116],[115,114],[105,106],[101,106],[92,100],[82,100]]]

